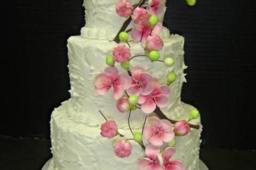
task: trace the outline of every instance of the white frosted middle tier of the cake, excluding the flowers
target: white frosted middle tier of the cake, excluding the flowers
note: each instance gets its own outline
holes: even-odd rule
[[[140,56],[131,60],[131,67],[142,66],[145,70],[159,79],[161,84],[166,84],[166,76],[174,71],[177,74],[177,80],[170,85],[171,94],[169,105],[161,110],[169,118],[179,112],[180,92],[182,83],[185,80],[183,70],[186,68],[183,63],[183,43],[184,39],[178,35],[171,35],[163,38],[164,47],[159,52],[159,60],[164,60],[166,56],[172,56],[175,64],[172,67],[166,67],[162,62],[151,62],[148,57]],[[82,122],[90,125],[99,125],[102,122],[99,110],[101,110],[109,119],[114,119],[120,126],[126,124],[127,115],[119,113],[116,108],[116,100],[113,97],[113,89],[107,94],[101,96],[94,90],[95,77],[103,72],[107,66],[106,56],[111,55],[114,47],[118,44],[114,41],[86,39],[81,36],[74,36],[68,39],[69,55],[69,74],[71,83],[71,104],[74,111],[68,112],[69,116],[76,122]],[[130,43],[131,56],[145,55],[145,50],[140,43]],[[119,73],[126,73],[119,63],[116,63]],[[175,111],[175,109],[177,111]],[[133,126],[140,127],[145,114],[140,109],[132,112]]]

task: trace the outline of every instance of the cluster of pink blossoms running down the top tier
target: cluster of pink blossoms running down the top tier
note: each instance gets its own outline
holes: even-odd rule
[[[163,16],[164,0],[149,0],[147,8],[136,7],[133,9],[131,2],[120,0],[116,5],[116,12],[119,16],[132,17],[134,28],[131,37],[135,42],[142,42],[149,51],[161,50],[163,48],[163,40],[158,36],[162,31],[162,24],[158,23],[152,29],[149,24],[151,15],[156,15],[158,19]],[[117,61],[118,62],[118,61]]]

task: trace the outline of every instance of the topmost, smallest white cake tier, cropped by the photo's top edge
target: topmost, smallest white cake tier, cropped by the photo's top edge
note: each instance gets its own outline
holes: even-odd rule
[[[141,4],[142,2],[144,2],[143,5]],[[98,36],[114,38],[122,28],[124,22],[130,16],[128,15],[124,17],[118,15],[116,8],[119,3],[130,3],[131,11],[141,4],[140,7],[145,8],[145,10],[161,13],[158,18],[159,22],[163,22],[166,9],[164,0],[85,0],[84,7],[86,25],[83,31],[86,33],[97,33]],[[160,5],[156,5],[156,3]],[[123,7],[124,6],[121,5],[121,9],[123,9]],[[126,30],[129,30],[132,27],[133,24],[130,23]]]

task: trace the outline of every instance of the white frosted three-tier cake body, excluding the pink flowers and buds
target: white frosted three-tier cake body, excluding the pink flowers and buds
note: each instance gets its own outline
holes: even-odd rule
[[[124,2],[128,2],[124,0]],[[147,2],[147,3],[145,3]],[[134,170],[143,169],[138,163],[145,154],[145,147],[150,142],[143,139],[143,144],[138,140],[126,140],[132,146],[131,154],[125,158],[118,157],[117,152],[113,150],[113,143],[119,139],[133,139],[133,132],[142,132],[146,116],[158,116],[159,114],[145,114],[140,107],[132,113],[120,113],[116,107],[117,100],[113,97],[113,88],[105,95],[98,94],[95,91],[95,78],[109,67],[106,64],[106,56],[113,54],[113,49],[118,46],[117,41],[113,41],[118,32],[123,27],[129,17],[119,16],[117,11],[118,0],[86,0],[84,1],[86,13],[86,26],[82,28],[81,36],[74,36],[68,39],[69,56],[69,75],[71,82],[71,98],[54,109],[51,118],[51,140],[53,158],[48,169],[123,169]],[[154,1],[130,0],[134,8],[145,8],[147,4]],[[146,5],[140,5],[145,3]],[[139,5],[139,6],[138,6]],[[134,10],[133,8],[133,10]],[[162,5],[163,14],[165,6]],[[159,23],[162,23],[163,16],[158,17]],[[127,24],[127,22],[126,22]],[[127,24],[125,31],[134,28],[134,23]],[[129,32],[129,31],[127,31]],[[170,120],[174,127],[175,121],[188,120],[191,111],[195,110],[193,106],[182,103],[180,100],[182,83],[186,82],[186,65],[183,62],[183,44],[184,38],[179,35],[170,35],[167,28],[162,28],[158,35],[163,40],[164,46],[159,50],[159,62],[153,62],[149,57],[137,57],[130,60],[130,67],[142,66],[152,77],[156,77],[159,83],[166,84],[166,75],[175,73],[177,78],[168,86],[170,88],[169,104],[166,107],[159,108],[160,113]],[[126,45],[125,43],[121,43]],[[129,38],[131,56],[147,54],[145,45],[141,42],[135,42]],[[161,61],[166,56],[171,56],[175,64],[167,67]],[[123,69],[121,64],[116,63],[115,67],[119,73],[127,74],[130,69]],[[130,72],[131,73],[131,72]],[[127,97],[129,95],[126,93]],[[125,94],[124,94],[125,96]],[[143,104],[142,104],[143,105]],[[142,105],[138,104],[138,106]],[[157,107],[158,108],[158,107]],[[107,120],[114,120],[118,126],[118,135],[112,139],[103,138],[101,134],[101,125],[105,123],[105,118],[99,113],[103,113]],[[130,125],[127,123],[129,120]],[[175,120],[175,121],[172,121]],[[150,123],[150,122],[149,122]],[[152,122],[151,122],[152,123]],[[175,145],[165,143],[175,149],[172,160],[177,160],[186,167],[187,170],[199,169],[199,145],[202,125],[200,118],[191,119],[190,125],[199,127],[191,128],[190,133],[186,135],[176,135]],[[147,124],[147,122],[146,122]],[[131,127],[131,129],[129,128]],[[143,147],[144,146],[144,147]],[[115,146],[114,146],[115,148]],[[162,148],[163,150],[163,148]],[[147,152],[147,149],[146,149]],[[149,157],[149,156],[148,156]],[[159,164],[163,162],[158,154]],[[163,163],[161,163],[163,164]],[[162,166],[164,169],[164,166]],[[160,169],[162,169],[160,168]],[[144,167],[150,170],[150,168]],[[157,169],[157,168],[155,168]],[[168,169],[168,168],[166,168]],[[181,167],[170,169],[183,169]]]

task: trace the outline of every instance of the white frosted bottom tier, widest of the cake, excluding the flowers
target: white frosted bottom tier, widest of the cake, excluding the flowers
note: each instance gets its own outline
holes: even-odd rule
[[[138,143],[132,144],[132,154],[128,158],[118,158],[113,151],[115,139],[102,138],[100,127],[87,126],[71,120],[67,114],[69,101],[54,109],[51,118],[51,141],[53,160],[48,170],[135,170],[138,160],[145,157],[145,152]],[[190,113],[193,106],[182,103],[183,111]],[[90,114],[90,113],[89,113]],[[199,123],[200,120],[193,120]],[[132,122],[131,122],[132,124]],[[200,124],[201,125],[201,124]],[[201,125],[202,127],[202,125]],[[125,137],[132,137],[130,130],[119,129]],[[134,130],[136,131],[136,130]],[[137,130],[138,131],[138,130]],[[174,159],[180,160],[187,170],[199,169],[200,130],[192,129],[185,137],[175,137],[177,152]]]

